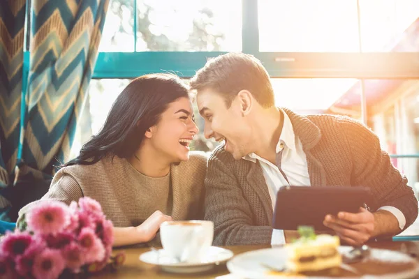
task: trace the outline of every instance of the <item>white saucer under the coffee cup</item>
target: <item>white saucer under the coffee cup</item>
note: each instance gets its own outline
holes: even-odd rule
[[[218,264],[227,262],[233,257],[230,250],[211,246],[205,253],[205,257],[200,262],[177,262],[176,259],[169,257],[165,250],[151,250],[140,255],[140,260],[147,264],[156,264],[162,270],[171,273],[198,273],[209,271]]]

